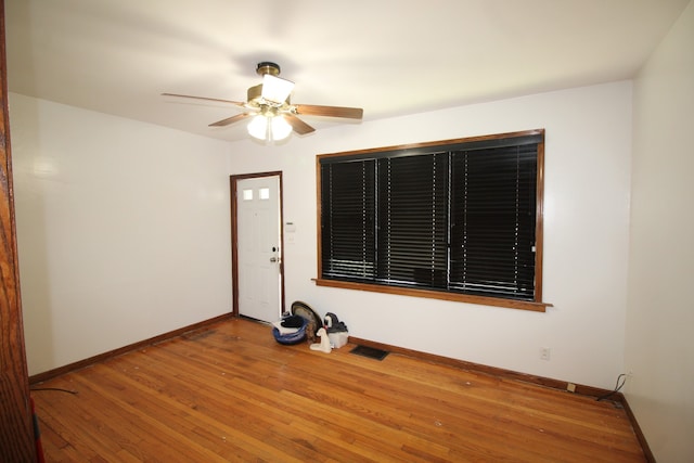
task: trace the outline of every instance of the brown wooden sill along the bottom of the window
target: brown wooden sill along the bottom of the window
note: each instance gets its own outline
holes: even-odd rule
[[[509,309],[544,312],[547,303],[530,303],[527,300],[502,299],[498,297],[471,296],[467,294],[444,293],[429,290],[413,290],[407,287],[382,286],[377,284],[354,283],[338,280],[312,279],[317,286],[342,287],[344,290],[370,291],[372,293],[397,294],[401,296],[426,297],[430,299],[451,300],[455,303],[477,304],[480,306],[504,307]]]

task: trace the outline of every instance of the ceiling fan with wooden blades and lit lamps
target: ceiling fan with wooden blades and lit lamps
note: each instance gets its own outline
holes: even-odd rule
[[[254,116],[248,124],[248,133],[257,139],[267,141],[282,140],[288,137],[292,130],[298,134],[306,134],[316,130],[297,116],[326,116],[349,119],[361,119],[363,116],[363,110],[360,107],[292,104],[290,94],[294,89],[294,82],[278,77],[280,75],[280,66],[277,63],[269,61],[258,63],[256,73],[262,76],[262,83],[248,89],[246,102],[177,93],[162,93],[162,95],[222,102],[240,106],[245,110],[244,113],[213,123],[209,127],[226,127]]]

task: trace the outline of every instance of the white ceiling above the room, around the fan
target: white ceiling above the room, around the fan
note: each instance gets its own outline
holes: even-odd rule
[[[5,0],[10,91],[223,140],[274,61],[372,120],[627,79],[690,0]],[[304,117],[326,128],[343,119]],[[312,137],[308,134],[304,137]],[[294,136],[296,137],[296,134]]]

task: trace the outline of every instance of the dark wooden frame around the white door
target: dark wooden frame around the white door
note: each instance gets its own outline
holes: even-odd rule
[[[278,177],[279,190],[278,201],[280,202],[280,312],[284,313],[284,201],[282,190],[282,170],[273,170],[269,172],[241,173],[229,176],[231,188],[231,292],[232,292],[232,309],[233,317],[239,317],[239,216],[237,216],[237,183],[240,180],[255,179],[259,177]]]

